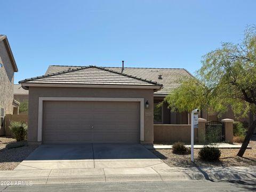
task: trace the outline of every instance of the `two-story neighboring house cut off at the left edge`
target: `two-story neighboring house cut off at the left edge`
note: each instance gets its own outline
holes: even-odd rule
[[[14,72],[18,72],[10,44],[6,35],[0,35],[0,135],[4,131],[5,114],[18,111],[19,102],[13,99]]]

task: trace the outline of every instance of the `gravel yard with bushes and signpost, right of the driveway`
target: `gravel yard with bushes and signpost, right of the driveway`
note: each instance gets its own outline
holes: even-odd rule
[[[256,166],[256,135],[253,135],[249,143],[252,149],[246,149],[243,158],[237,157],[239,149],[221,149],[221,157],[218,162],[204,162],[198,158],[199,149],[194,149],[195,164],[191,163],[190,155],[175,155],[172,149],[151,150],[156,156],[169,166]]]

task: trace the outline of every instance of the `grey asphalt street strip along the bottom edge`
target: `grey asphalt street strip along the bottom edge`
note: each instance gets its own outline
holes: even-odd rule
[[[256,191],[256,181],[152,181],[152,182],[94,182],[66,183],[33,186],[0,186],[1,192],[7,191]]]

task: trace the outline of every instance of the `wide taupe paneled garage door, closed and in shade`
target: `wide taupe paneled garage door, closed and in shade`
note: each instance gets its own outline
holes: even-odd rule
[[[139,102],[44,101],[43,143],[138,143]]]

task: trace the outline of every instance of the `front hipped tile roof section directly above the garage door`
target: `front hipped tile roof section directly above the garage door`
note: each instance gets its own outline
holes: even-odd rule
[[[25,79],[19,83],[162,86],[157,82],[97,66],[60,69],[43,76]]]

